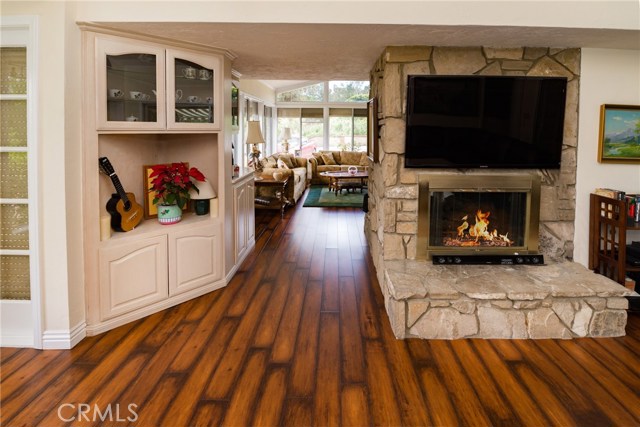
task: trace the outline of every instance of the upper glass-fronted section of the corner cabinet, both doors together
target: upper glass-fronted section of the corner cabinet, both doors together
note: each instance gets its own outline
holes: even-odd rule
[[[221,128],[220,57],[121,37],[95,43],[98,130]]]

